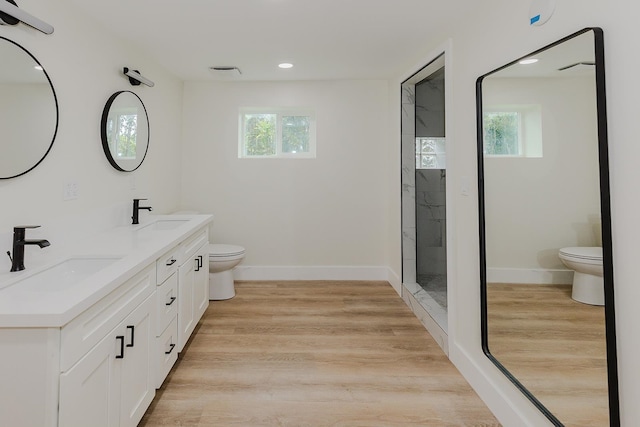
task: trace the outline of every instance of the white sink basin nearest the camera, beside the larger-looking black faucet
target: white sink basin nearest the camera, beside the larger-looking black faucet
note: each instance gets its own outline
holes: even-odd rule
[[[19,280],[14,286],[23,290],[56,292],[67,289],[99,272],[120,258],[69,258],[33,276]]]

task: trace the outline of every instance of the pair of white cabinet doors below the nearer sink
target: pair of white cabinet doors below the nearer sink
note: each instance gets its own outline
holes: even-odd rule
[[[60,427],[136,426],[142,419],[155,394],[154,297],[60,375]]]

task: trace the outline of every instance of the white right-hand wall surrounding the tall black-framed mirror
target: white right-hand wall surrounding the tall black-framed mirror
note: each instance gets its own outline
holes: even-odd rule
[[[480,342],[480,286],[478,249],[478,203],[474,191],[476,166],[476,79],[516,58],[552,43],[584,27],[604,29],[607,73],[607,105],[610,143],[610,176],[613,215],[613,252],[616,289],[618,366],[621,391],[621,416],[624,426],[634,426],[640,419],[640,287],[635,266],[640,241],[637,217],[640,199],[636,183],[640,182],[640,144],[637,144],[637,108],[640,85],[637,70],[636,16],[640,5],[622,0],[563,0],[557,2],[552,19],[542,27],[528,25],[530,2],[489,0],[484,12],[461,16],[451,23],[440,40],[425,41],[425,52],[416,53],[416,65],[409,66],[397,79],[397,88],[408,74],[420,65],[420,55],[432,54],[438,43],[450,38],[452,43],[452,132],[447,138],[453,145],[454,162],[447,172],[447,186],[454,190],[447,203],[456,209],[452,239],[455,253],[449,261],[456,265],[457,277],[450,282],[454,316],[449,326],[450,357],[468,381],[499,416],[504,425],[548,425],[546,419],[483,355]],[[499,11],[499,12],[498,12]],[[392,92],[395,90],[391,88]],[[392,105],[399,109],[396,97]],[[394,113],[395,114],[395,113]],[[392,122],[392,135],[399,145],[400,126]],[[447,157],[449,161],[450,156]],[[469,196],[462,194],[465,182],[471,183]],[[450,216],[448,215],[448,218]],[[396,228],[400,230],[400,223]],[[451,301],[450,299],[450,301]]]

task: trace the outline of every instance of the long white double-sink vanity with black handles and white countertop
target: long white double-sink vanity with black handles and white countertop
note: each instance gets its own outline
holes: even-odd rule
[[[213,217],[150,218],[0,273],[0,425],[138,424],[209,304]]]

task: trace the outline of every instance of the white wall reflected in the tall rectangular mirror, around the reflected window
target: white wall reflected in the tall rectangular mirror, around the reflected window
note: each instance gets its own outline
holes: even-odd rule
[[[484,158],[487,267],[564,269],[560,248],[601,245],[595,80],[489,78],[482,93],[542,107],[541,157]]]

